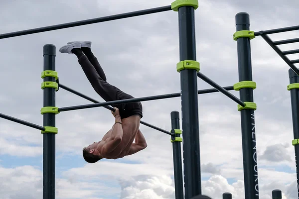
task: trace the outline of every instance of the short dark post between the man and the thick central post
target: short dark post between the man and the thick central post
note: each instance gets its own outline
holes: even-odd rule
[[[179,112],[172,111],[170,113],[171,118],[171,131],[175,133],[175,130],[180,129],[179,127]],[[175,136],[171,137],[172,140],[172,151],[173,151],[173,169],[174,169],[174,190],[175,199],[184,199],[184,186],[183,186],[183,166],[182,166],[182,155],[181,155],[181,142],[180,134],[175,133]]]

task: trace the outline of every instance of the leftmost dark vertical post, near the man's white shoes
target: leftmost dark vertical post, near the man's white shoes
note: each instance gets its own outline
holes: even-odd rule
[[[44,71],[55,71],[56,47],[46,44],[43,47]],[[54,77],[43,78],[44,82],[55,82]],[[55,106],[55,89],[43,89],[43,106]],[[55,126],[55,113],[43,114],[44,126]],[[43,199],[55,199],[55,134],[43,134]]]

